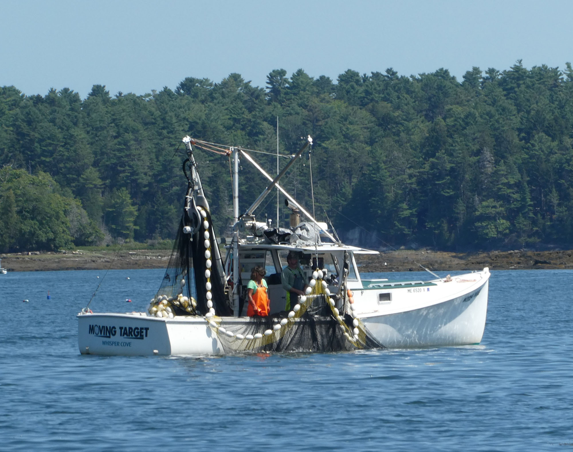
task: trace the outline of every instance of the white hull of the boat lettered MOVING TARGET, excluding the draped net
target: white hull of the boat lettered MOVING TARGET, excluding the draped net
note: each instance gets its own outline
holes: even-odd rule
[[[355,290],[356,318],[382,346],[418,348],[480,343],[488,306],[489,271],[461,275],[448,283],[391,290]],[[391,292],[390,303],[378,303]],[[374,301],[373,301],[374,300]],[[249,318],[224,318],[244,326]],[[203,317],[174,319],[132,314],[79,314],[80,353],[96,355],[222,354],[217,334]]]

